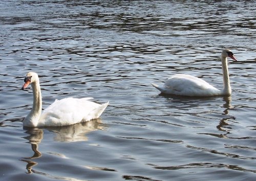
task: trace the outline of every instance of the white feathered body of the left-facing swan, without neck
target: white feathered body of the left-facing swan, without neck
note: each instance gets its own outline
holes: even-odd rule
[[[100,117],[108,103],[97,104],[93,98],[55,100],[41,114],[38,126],[64,126]]]

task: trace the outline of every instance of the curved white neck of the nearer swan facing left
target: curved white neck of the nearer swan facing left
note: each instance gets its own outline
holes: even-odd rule
[[[31,83],[33,89],[33,107],[24,119],[24,126],[36,127],[42,111],[42,97],[39,81]]]

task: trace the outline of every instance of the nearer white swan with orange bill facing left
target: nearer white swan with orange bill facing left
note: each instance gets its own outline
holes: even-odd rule
[[[24,119],[25,127],[66,126],[100,117],[109,102],[97,104],[90,101],[93,98],[64,98],[55,100],[49,107],[42,111],[42,97],[38,75],[34,72],[27,73],[24,79],[24,90],[31,84],[33,89],[33,107]]]

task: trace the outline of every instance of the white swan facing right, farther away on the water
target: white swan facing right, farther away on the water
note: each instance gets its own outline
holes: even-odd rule
[[[156,85],[154,83],[151,84],[164,94],[173,94],[178,96],[208,97],[230,95],[231,87],[228,76],[227,57],[237,61],[230,50],[224,49],[222,51],[221,62],[224,84],[224,88],[222,90],[215,88],[200,78],[185,74],[176,74],[171,76],[165,81],[163,86]]]

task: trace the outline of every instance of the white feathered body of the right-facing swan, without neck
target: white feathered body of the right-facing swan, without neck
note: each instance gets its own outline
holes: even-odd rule
[[[153,84],[165,94],[181,96],[213,96],[221,94],[221,90],[208,84],[202,79],[185,74],[176,74],[167,79],[164,86]]]

